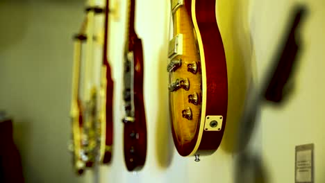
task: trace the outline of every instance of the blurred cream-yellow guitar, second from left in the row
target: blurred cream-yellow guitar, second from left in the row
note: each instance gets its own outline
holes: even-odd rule
[[[83,146],[85,146],[85,162],[87,167],[92,167],[96,160],[97,150],[97,103],[98,92],[94,83],[94,15],[97,8],[94,8],[94,0],[90,0],[87,15],[87,42],[85,51],[85,67],[83,80]]]

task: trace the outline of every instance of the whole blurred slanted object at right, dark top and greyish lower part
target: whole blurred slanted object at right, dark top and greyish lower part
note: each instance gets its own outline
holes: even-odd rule
[[[238,135],[238,149],[242,152],[235,162],[235,182],[268,182],[267,172],[263,167],[260,155],[253,155],[247,148],[253,129],[256,126],[256,113],[261,103],[266,99],[273,103],[281,103],[288,98],[292,89],[292,73],[297,64],[300,35],[299,29],[301,19],[306,15],[305,6],[297,6],[291,14],[288,28],[278,46],[278,51],[269,64],[268,71],[262,78],[261,86],[253,86],[242,114]],[[290,81],[290,82],[289,82]]]

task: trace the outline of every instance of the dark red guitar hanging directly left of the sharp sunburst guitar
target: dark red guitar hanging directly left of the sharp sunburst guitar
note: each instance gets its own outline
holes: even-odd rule
[[[128,171],[140,170],[147,155],[147,125],[143,101],[142,42],[135,33],[135,0],[128,1],[124,50],[124,159]]]

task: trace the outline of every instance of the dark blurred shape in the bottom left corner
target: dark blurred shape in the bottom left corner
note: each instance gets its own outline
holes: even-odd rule
[[[12,138],[12,121],[0,112],[0,182],[24,182],[19,152]]]

